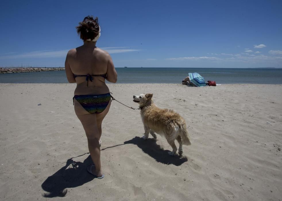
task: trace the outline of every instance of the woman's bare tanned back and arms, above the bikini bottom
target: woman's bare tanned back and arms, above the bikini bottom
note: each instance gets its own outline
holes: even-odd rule
[[[68,52],[66,63],[69,64],[71,74],[85,75],[75,78],[77,83],[74,91],[75,95],[87,95],[87,94],[106,94],[109,93],[109,88],[105,84],[105,78],[103,76],[92,76],[93,80],[88,80],[88,86],[86,81],[86,75],[102,75],[107,74],[107,80],[110,82],[115,81],[111,79],[116,77],[116,71],[113,66],[110,55],[91,43],[85,43],[84,45],[72,49]],[[66,73],[67,68],[66,68]],[[69,79],[69,78],[68,78]],[[70,78],[71,79],[71,78]]]

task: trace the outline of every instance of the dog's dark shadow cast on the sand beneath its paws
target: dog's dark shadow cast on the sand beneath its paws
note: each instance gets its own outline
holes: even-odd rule
[[[132,140],[124,142],[124,144],[136,144],[144,153],[154,158],[157,162],[166,165],[173,164],[175,166],[179,166],[188,161],[186,156],[179,156],[178,154],[170,156],[167,152],[171,150],[163,150],[163,148],[158,145],[156,140],[153,138],[143,140],[143,138],[136,136]]]

